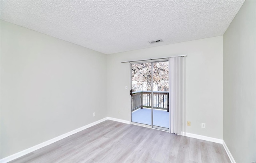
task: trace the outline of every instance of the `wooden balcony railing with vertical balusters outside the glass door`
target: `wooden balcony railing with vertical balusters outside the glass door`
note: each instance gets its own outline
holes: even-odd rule
[[[151,108],[151,91],[132,92],[132,111],[138,108]],[[169,112],[169,92],[153,91],[153,108]]]

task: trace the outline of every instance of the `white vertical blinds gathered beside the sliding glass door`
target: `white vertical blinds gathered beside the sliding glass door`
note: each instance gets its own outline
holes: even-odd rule
[[[186,57],[169,58],[169,133],[186,133]]]

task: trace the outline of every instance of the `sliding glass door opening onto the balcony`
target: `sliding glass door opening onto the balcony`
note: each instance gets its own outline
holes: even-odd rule
[[[169,130],[168,61],[131,64],[132,122]]]

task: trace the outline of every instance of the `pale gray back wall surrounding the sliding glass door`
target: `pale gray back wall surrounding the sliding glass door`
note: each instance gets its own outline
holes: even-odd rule
[[[122,61],[184,54],[186,132],[223,139],[223,36],[108,55],[108,116],[130,121],[130,66]]]

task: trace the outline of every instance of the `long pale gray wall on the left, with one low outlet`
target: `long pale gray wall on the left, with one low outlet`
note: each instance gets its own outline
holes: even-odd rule
[[[103,53],[1,21],[1,158],[105,118],[106,68]]]

